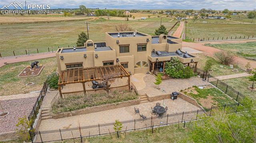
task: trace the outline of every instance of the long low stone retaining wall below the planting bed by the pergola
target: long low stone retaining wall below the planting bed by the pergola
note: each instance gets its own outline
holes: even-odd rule
[[[88,107],[88,108],[70,111],[70,112],[57,113],[57,114],[53,114],[52,118],[53,119],[65,118],[65,117],[70,117],[70,116],[100,112],[100,111],[122,108],[122,107],[127,107],[127,106],[134,106],[134,105],[138,105],[138,104],[140,104],[140,98],[135,99],[135,100],[130,100],[130,101],[124,101],[124,102],[118,102],[118,103],[112,103],[112,104],[106,104],[106,105],[100,105],[100,106],[93,106],[93,107]]]

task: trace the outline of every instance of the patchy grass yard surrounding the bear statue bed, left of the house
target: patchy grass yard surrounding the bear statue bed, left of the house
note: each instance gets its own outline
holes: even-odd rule
[[[41,90],[46,80],[46,76],[56,71],[56,59],[47,58],[39,59],[39,65],[44,65],[42,72],[35,77],[18,77],[18,74],[27,66],[29,61],[14,64],[8,64],[0,68],[0,96],[29,93],[36,90]],[[31,61],[33,62],[33,61]],[[26,86],[28,82],[34,82],[33,86]]]

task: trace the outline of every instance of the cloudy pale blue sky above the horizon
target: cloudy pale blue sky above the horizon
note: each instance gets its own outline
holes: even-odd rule
[[[25,0],[16,0],[25,4]],[[15,0],[0,0],[0,7]],[[256,0],[26,0],[27,4],[50,4],[53,8],[87,8],[100,9],[194,9],[211,8],[213,10],[254,10]]]

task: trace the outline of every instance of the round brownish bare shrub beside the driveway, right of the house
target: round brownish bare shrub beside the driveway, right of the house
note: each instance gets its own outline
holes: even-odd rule
[[[225,51],[215,52],[214,57],[223,65],[230,65],[235,62],[235,56]]]

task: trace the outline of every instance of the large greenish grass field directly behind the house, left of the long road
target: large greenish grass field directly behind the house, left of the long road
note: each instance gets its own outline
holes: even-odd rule
[[[105,41],[105,32],[115,31],[114,25],[124,21],[105,20],[103,18],[89,21],[89,37],[93,41]],[[160,22],[128,21],[134,30],[154,35],[155,29],[160,26]],[[162,22],[170,29],[175,22]],[[68,47],[76,45],[76,40],[80,32],[86,31],[84,21],[70,21],[57,23],[40,24],[4,24],[0,25],[0,43],[1,55],[24,54],[25,49],[35,51],[41,48],[48,51],[47,47]],[[8,35],[8,36],[6,36]],[[20,54],[19,54],[20,53]]]

